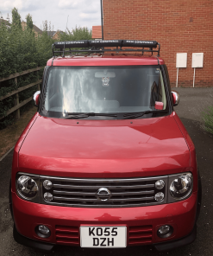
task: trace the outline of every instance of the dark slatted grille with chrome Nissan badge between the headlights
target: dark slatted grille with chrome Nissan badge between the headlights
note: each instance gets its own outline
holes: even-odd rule
[[[154,184],[160,179],[165,181],[165,187],[156,189]],[[53,183],[52,189],[43,187],[42,183],[45,180]],[[46,192],[53,195],[51,202],[47,202],[42,196],[41,201],[45,204],[85,208],[126,208],[166,202],[167,176],[126,179],[78,179],[40,176],[40,181],[42,195]],[[101,189],[99,195],[97,195],[98,189]],[[154,195],[158,192],[165,195],[164,200],[160,202],[156,202],[154,199]]]

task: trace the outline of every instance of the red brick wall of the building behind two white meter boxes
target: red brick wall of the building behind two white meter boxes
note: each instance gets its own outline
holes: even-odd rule
[[[213,86],[213,0],[103,0],[103,33],[105,40],[159,42],[172,86],[176,54],[187,53],[187,67],[179,68],[179,86],[192,86],[192,53],[204,53],[195,86]]]

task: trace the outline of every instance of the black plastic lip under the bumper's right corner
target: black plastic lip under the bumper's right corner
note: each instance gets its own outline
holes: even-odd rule
[[[180,246],[187,246],[191,244],[194,240],[196,240],[196,237],[197,237],[197,226],[195,225],[191,231],[191,234],[188,234],[184,238],[181,238],[179,240],[172,240],[165,243],[153,244],[153,246],[159,252],[166,252],[166,251],[179,248]]]

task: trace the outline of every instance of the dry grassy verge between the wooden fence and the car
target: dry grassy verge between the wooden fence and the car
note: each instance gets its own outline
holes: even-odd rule
[[[0,130],[0,158],[15,146],[16,141],[22,134],[24,128],[28,125],[28,122],[33,118],[34,113],[37,111],[35,106],[31,106],[28,111],[24,112],[20,119],[13,125],[9,125],[7,128]]]

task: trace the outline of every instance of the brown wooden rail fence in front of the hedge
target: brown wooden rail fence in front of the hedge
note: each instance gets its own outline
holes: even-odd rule
[[[38,90],[40,91],[40,84],[41,84],[41,80],[39,80],[39,70],[43,69],[44,67],[35,67],[35,68],[32,68],[32,69],[29,69],[29,70],[25,70],[25,71],[22,71],[22,73],[16,73],[16,74],[10,74],[8,77],[5,77],[5,78],[0,78],[0,82],[2,81],[5,81],[5,80],[10,80],[10,79],[14,79],[15,80],[15,83],[17,85],[17,77],[23,75],[23,74],[28,74],[28,73],[31,73],[31,72],[37,72],[37,77],[38,77],[38,80],[34,83],[31,83],[27,86],[22,86],[22,87],[19,87],[17,90],[15,91],[12,91],[10,93],[7,93],[6,95],[0,97],[0,100],[2,99],[6,99],[8,98],[9,96],[12,96],[14,94],[16,94],[16,100],[15,100],[15,106],[10,108],[9,111],[2,117],[0,117],[0,120],[6,116],[8,116],[10,113],[12,112],[15,112],[16,111],[16,118],[20,118],[20,107],[24,106],[25,104],[27,104],[30,100],[33,99],[33,96],[29,97],[28,99],[25,99],[23,100],[21,103],[19,103],[19,95],[18,93],[32,87],[32,86],[36,86],[38,85]]]

